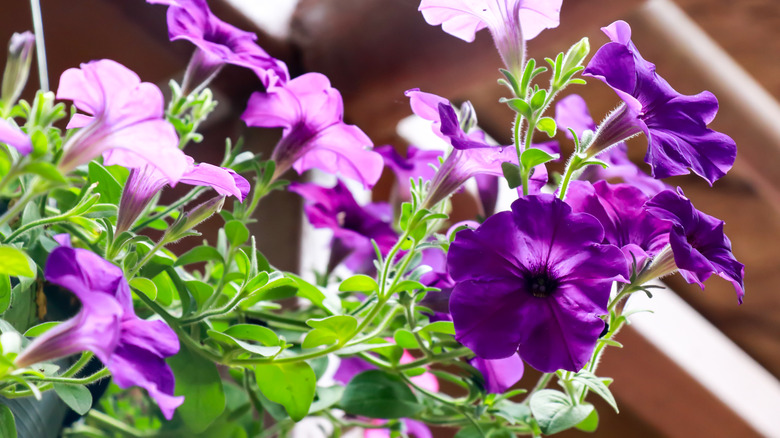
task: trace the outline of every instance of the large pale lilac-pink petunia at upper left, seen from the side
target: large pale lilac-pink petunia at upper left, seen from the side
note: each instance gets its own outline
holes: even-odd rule
[[[101,154],[106,165],[155,166],[171,184],[187,170],[176,130],[164,118],[162,92],[118,62],[102,59],[66,70],[57,98],[89,114],[76,114],[68,123],[81,129],[62,147],[63,172]]]

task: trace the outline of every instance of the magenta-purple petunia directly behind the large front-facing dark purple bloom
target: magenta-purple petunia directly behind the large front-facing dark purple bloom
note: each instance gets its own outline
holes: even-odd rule
[[[566,194],[572,211],[598,219],[604,227],[603,243],[623,250],[629,264],[636,261],[637,270],[669,243],[670,225],[645,210],[648,199],[636,187],[606,181],[573,181]]]

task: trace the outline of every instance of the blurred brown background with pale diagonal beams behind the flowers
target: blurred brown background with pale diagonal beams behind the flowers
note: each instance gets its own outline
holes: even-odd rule
[[[32,30],[27,2],[3,3],[0,41]],[[192,46],[168,41],[165,7],[143,0],[41,3],[53,90],[62,71],[100,58],[121,62],[164,92],[171,77],[181,80]],[[470,100],[480,126],[509,143],[513,113],[498,103],[504,94],[496,83],[501,61],[487,31],[464,43],[427,25],[417,0],[210,0],[209,5],[223,20],[257,32],[259,44],[287,62],[293,76],[326,74],[344,97],[346,121],[375,145],[406,147],[396,126],[411,114],[403,91],[415,87],[455,102]],[[561,26],[532,40],[529,56],[554,57],[583,36],[594,53],[607,42],[599,28],[616,19],[631,24],[642,55],[678,91],[710,90],[720,100],[711,127],[736,140],[733,171],[713,189],[695,176],[667,182],[682,187],[698,209],[726,221],[734,254],[746,265],[747,295],[738,306],[732,286],[717,277],[704,291],[679,276],[666,279],[673,292],[660,293],[684,300],[671,306],[688,309],[687,303],[702,319],[690,314],[665,319],[659,309],[657,318],[649,317],[651,328],[637,324],[639,330],[629,327],[618,336],[625,348],[610,350],[599,374],[615,378],[612,390],[621,412],[601,403],[596,435],[780,437],[780,2],[564,0]],[[27,99],[38,87],[35,72],[34,65]],[[257,78],[228,65],[212,88],[219,108],[203,126],[203,143],[188,153],[217,163],[224,138],[243,136],[248,148],[270,154],[279,132],[248,129],[239,119],[249,95],[262,90]],[[567,92],[583,95],[596,120],[618,103],[594,80]],[[559,140],[564,153],[571,148],[562,136]],[[642,163],[645,143],[633,140],[629,149],[649,170]],[[391,183],[384,175],[374,198],[386,199]],[[459,204],[465,212],[474,208],[467,195]],[[295,270],[300,251],[291,242],[298,242],[301,231],[299,198],[275,193],[261,210],[254,230],[261,248],[280,269]],[[676,338],[693,344],[677,345]],[[521,384],[535,382],[527,374]]]

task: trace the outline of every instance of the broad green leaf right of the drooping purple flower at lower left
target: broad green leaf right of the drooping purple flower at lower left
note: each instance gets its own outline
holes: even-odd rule
[[[192,432],[203,432],[225,410],[225,391],[216,365],[186,344],[167,362],[176,375],[174,394],[185,396],[177,415]]]

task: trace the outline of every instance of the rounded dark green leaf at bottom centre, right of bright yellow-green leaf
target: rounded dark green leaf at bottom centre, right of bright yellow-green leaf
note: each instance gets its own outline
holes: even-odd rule
[[[369,418],[402,418],[414,416],[423,407],[400,377],[369,370],[347,384],[341,408],[349,414]]]

